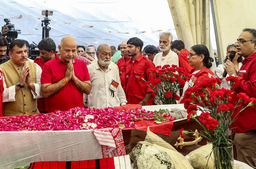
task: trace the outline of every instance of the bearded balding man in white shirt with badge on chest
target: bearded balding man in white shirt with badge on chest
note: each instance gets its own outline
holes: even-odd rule
[[[121,86],[119,70],[110,64],[110,47],[107,44],[101,44],[96,55],[98,61],[87,66],[92,83],[87,101],[88,108],[102,109],[126,104],[127,100]]]

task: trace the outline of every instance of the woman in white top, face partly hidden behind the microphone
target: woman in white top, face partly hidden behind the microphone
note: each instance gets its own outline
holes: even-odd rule
[[[239,69],[242,66],[241,62],[243,61],[243,58],[237,54],[237,49],[236,49],[235,44],[229,44],[227,46],[227,57],[224,60],[224,63],[229,59],[229,55],[230,55],[231,51],[236,51],[236,55],[235,55],[234,59],[232,60],[232,63],[235,65],[236,70],[239,71]],[[218,65],[217,69],[215,69],[215,71],[214,71],[214,77],[215,78],[218,77],[221,80],[220,88],[230,89],[230,82],[228,82],[226,80],[226,78],[229,77],[229,74],[227,74],[226,77],[222,76],[223,72],[224,72],[224,67],[225,66],[222,64]]]

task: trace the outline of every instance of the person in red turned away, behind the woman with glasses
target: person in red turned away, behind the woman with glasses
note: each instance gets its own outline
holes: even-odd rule
[[[185,45],[182,40],[175,40],[172,42],[172,50],[179,56],[179,65],[186,73],[189,73],[194,67],[189,65],[187,56],[189,51],[185,49]]]

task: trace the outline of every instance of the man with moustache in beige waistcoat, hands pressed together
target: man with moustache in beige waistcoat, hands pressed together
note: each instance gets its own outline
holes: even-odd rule
[[[3,116],[33,115],[41,92],[42,69],[27,61],[27,48],[22,40],[13,40],[9,45],[11,60],[0,65],[3,71]]]

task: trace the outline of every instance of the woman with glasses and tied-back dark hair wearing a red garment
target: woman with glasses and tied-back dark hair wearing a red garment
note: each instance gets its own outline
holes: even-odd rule
[[[213,59],[209,55],[209,51],[204,45],[192,46],[187,56],[189,65],[193,66],[187,77],[187,81],[183,88],[182,97],[180,103],[184,103],[183,100],[186,89],[194,87],[196,83],[201,82],[207,78],[213,77],[213,72],[209,70],[212,67]]]

